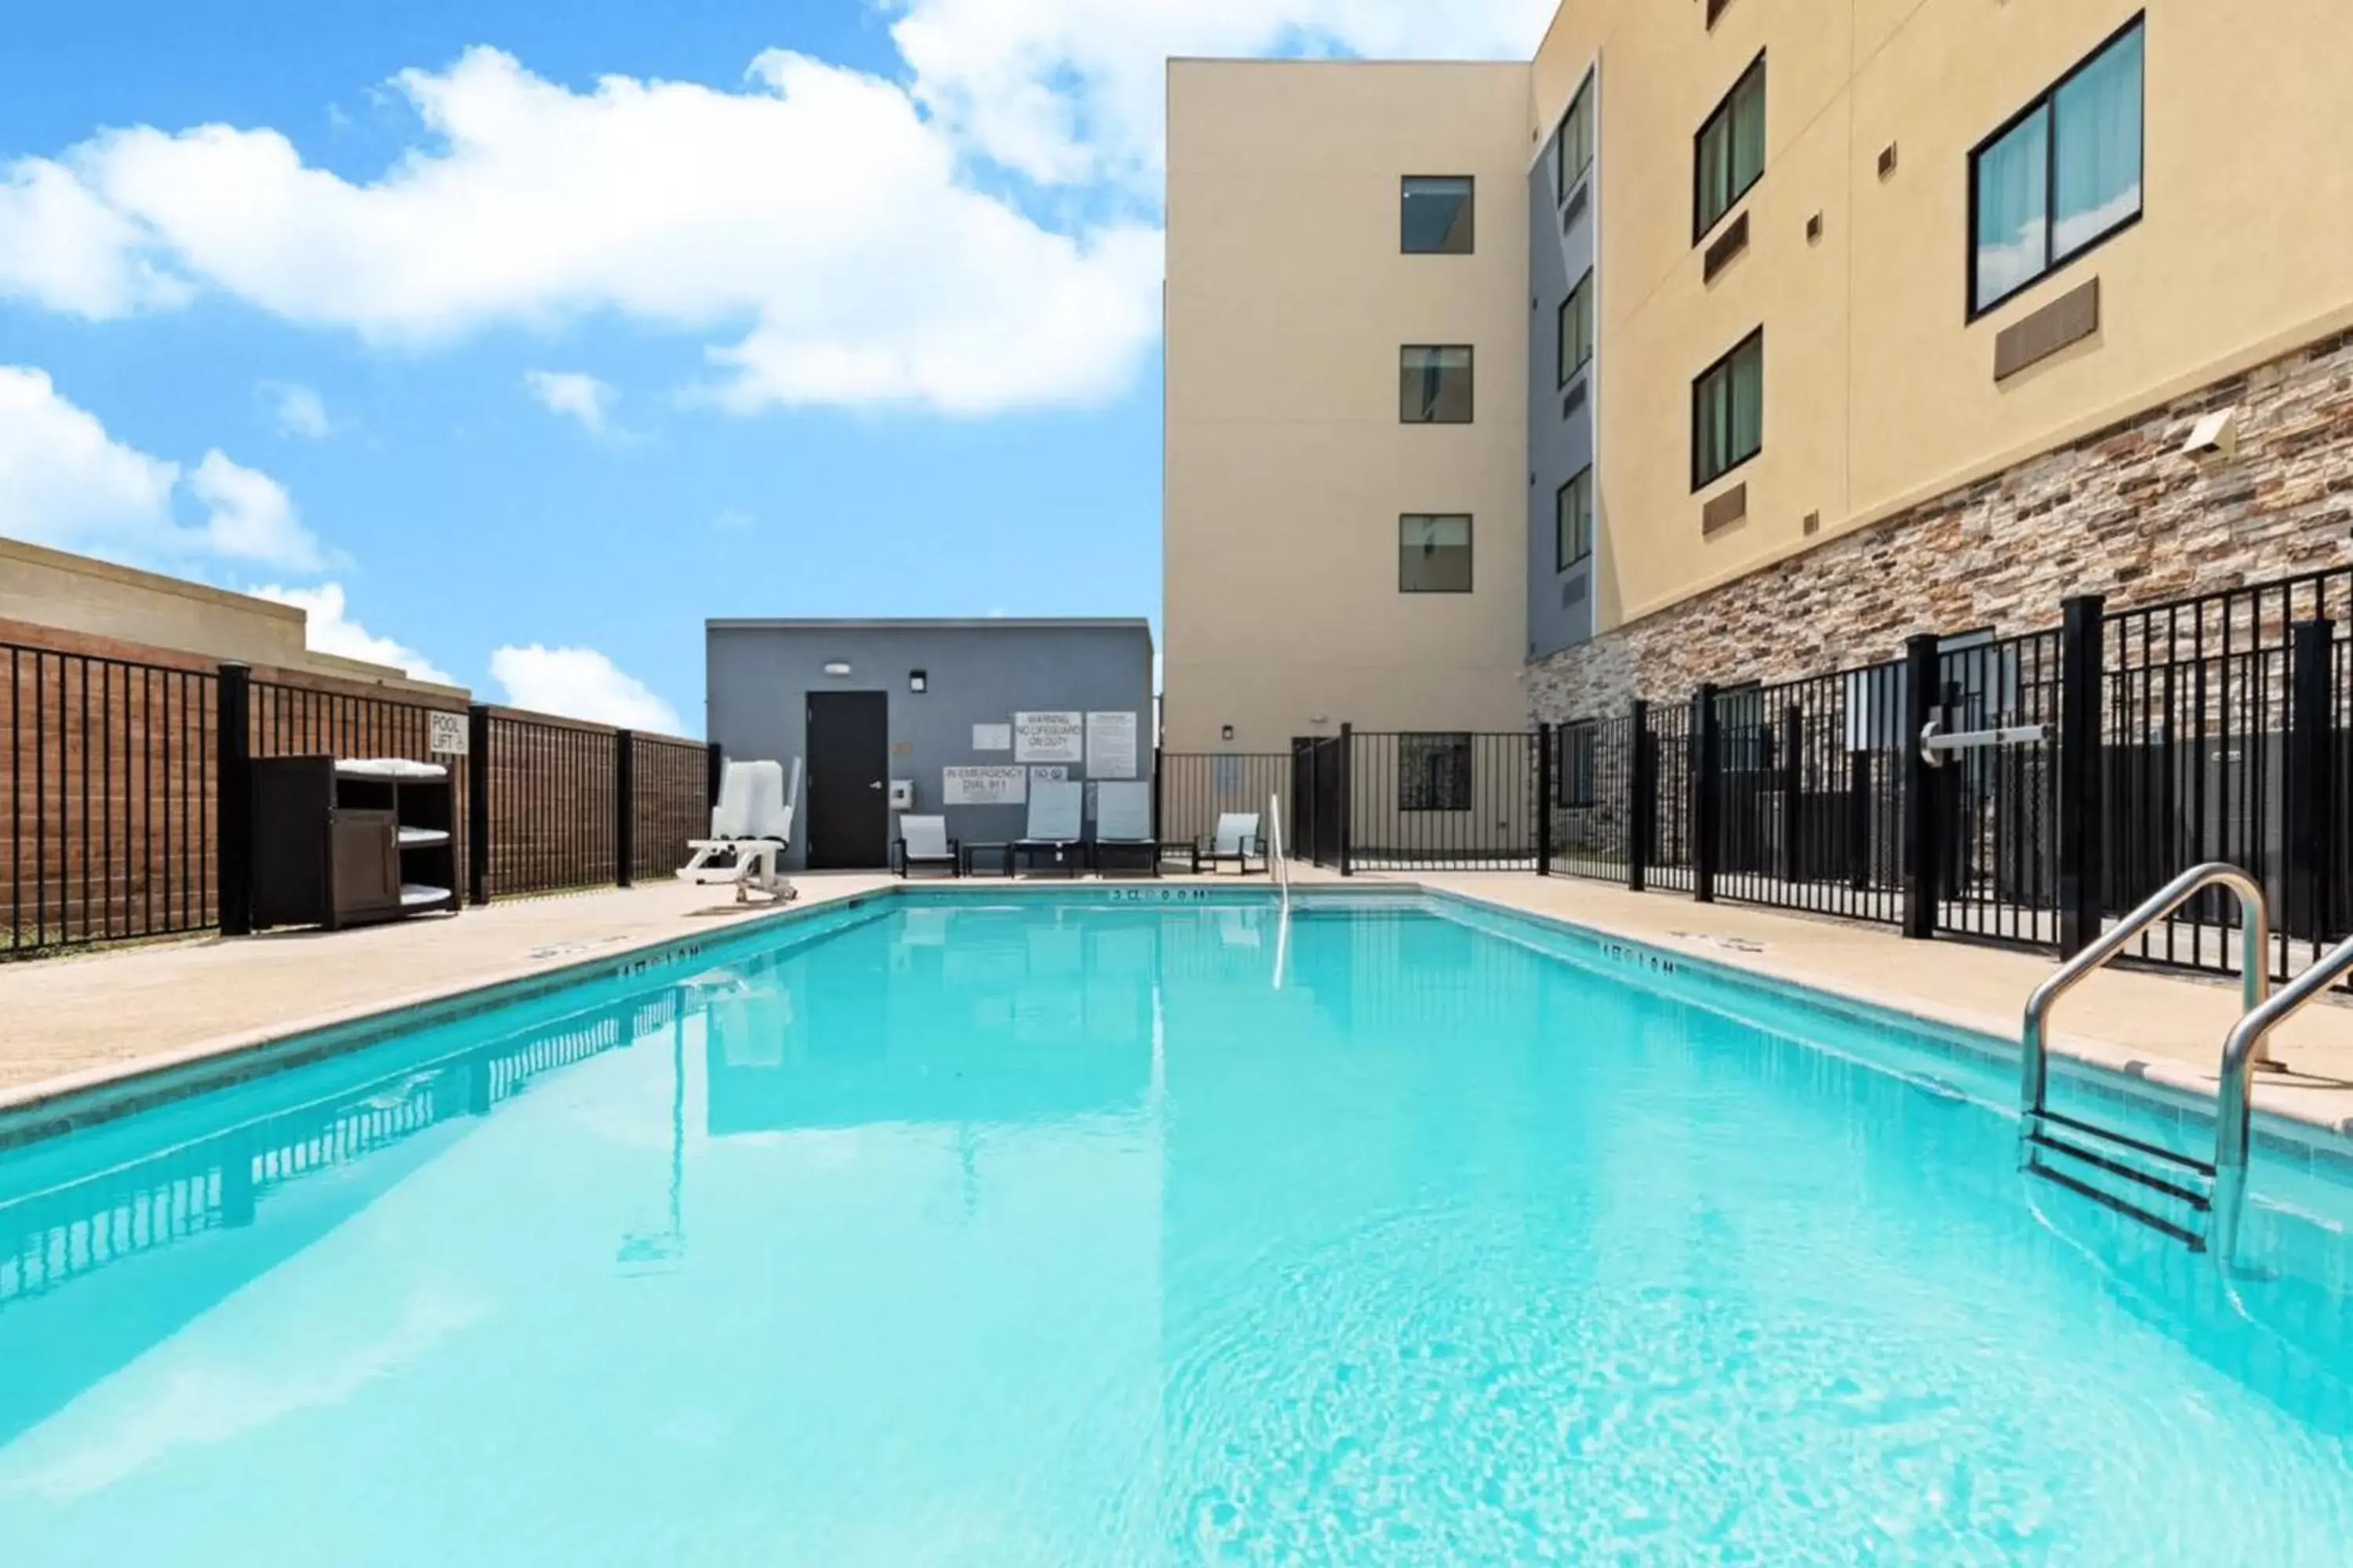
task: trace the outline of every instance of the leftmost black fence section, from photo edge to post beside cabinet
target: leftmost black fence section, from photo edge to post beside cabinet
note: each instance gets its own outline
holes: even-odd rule
[[[19,644],[0,654],[0,952],[212,926],[214,675]]]

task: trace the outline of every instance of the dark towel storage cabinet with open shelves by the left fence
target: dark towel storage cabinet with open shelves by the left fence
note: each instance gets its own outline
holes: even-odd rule
[[[428,762],[254,757],[254,929],[456,910],[456,802]]]

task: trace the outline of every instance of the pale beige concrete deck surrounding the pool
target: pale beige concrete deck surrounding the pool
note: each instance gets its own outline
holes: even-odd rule
[[[1301,884],[1337,882],[1299,867]],[[795,877],[795,907],[892,886],[875,875]],[[1169,877],[1188,884],[1193,877]],[[1235,877],[1202,877],[1235,886]],[[1252,879],[1264,886],[1264,882]],[[2026,994],[2052,959],[1969,943],[1906,943],[1892,931],[1628,893],[1527,872],[1381,872],[1358,886],[1417,884],[1506,910],[2017,1039]],[[922,884],[986,893],[1002,882]],[[266,1039],[414,1006],[565,964],[755,919],[725,891],[675,882],[567,898],[529,898],[459,917],[341,933],[289,931],[188,940],[0,966],[0,1107]],[[2111,969],[2071,994],[2054,1048],[2179,1086],[2212,1088],[2221,1039],[2238,1020],[2231,980]],[[2273,1037],[2289,1067],[2264,1074],[2257,1105],[2353,1131],[2353,1006],[2320,1004]]]

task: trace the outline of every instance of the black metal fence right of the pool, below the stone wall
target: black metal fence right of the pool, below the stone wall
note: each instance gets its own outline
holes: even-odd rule
[[[1341,872],[1527,867],[2059,952],[2228,860],[2285,978],[2353,931],[2353,569],[2075,597],[2049,630],[1534,733],[1344,724],[1294,776],[1294,837]],[[2200,896],[2134,954],[2228,971],[2238,922]]]

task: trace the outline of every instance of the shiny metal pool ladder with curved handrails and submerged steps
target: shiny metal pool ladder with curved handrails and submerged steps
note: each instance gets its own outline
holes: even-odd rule
[[[2075,990],[2092,971],[2104,969],[2141,931],[2212,886],[2238,893],[2240,1001],[2245,1013],[2224,1051],[2214,1159],[2205,1161],[2052,1110],[2047,1030],[2052,1006],[2059,1004],[2059,997]],[[2264,886],[2240,867],[2214,860],[2193,865],[2167,882],[2118,922],[2115,929],[2061,964],[2026,1001],[2026,1032],[2019,1041],[2019,1166],[2118,1213],[2132,1215],[2198,1253],[2207,1251],[2207,1237],[2193,1229],[2202,1215],[2207,1229],[2221,1241],[2219,1260],[2228,1267],[2231,1241],[2238,1234],[2238,1204],[2247,1187],[2247,1074],[2254,1067],[2278,1065],[2264,1051],[2264,1041],[2273,1023],[2327,987],[2327,976],[2315,983],[2313,973],[2327,969],[2337,957],[2353,964],[2353,943],[2348,943],[2337,954],[2329,954],[2329,959],[2315,964],[2313,973],[2299,978],[2294,987],[2280,992],[2278,1001],[2273,1001],[2268,947],[2271,905],[2264,898]],[[2049,1157],[2066,1164],[2047,1164]],[[2129,1182],[2132,1197],[2094,1185],[2094,1173]],[[2188,1220],[2174,1220],[2155,1211],[2155,1204],[2167,1201],[2186,1208]]]

